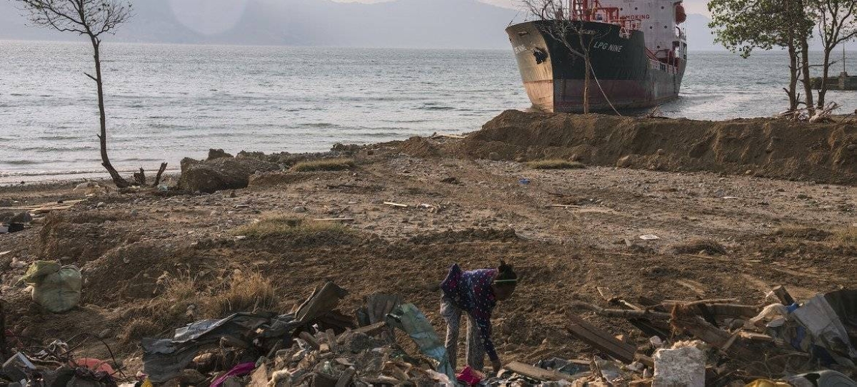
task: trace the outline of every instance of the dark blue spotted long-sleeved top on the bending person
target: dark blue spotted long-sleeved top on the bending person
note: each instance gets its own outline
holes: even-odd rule
[[[444,299],[466,312],[472,323],[476,324],[482,339],[482,348],[492,361],[499,359],[494,350],[494,342],[491,341],[491,312],[497,305],[491,284],[496,276],[496,269],[461,271],[461,267],[456,264],[452,265],[446,279],[440,283]]]

